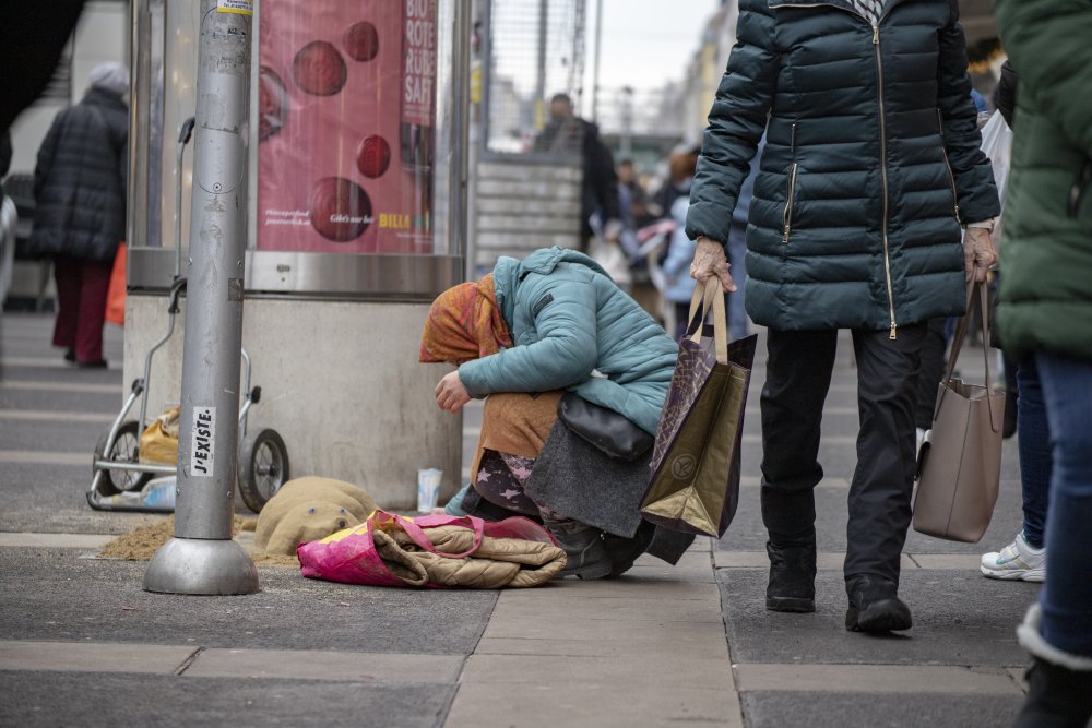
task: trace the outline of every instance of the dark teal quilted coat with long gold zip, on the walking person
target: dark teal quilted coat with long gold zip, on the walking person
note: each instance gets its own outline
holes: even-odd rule
[[[779,330],[890,329],[963,312],[960,222],[998,214],[952,0],[740,0],[687,235],[747,228],[747,312]]]

